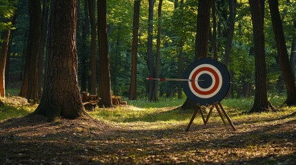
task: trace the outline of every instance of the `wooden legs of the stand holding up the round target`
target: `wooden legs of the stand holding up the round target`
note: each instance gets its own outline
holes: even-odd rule
[[[232,122],[231,119],[229,118],[228,114],[226,113],[226,111],[225,111],[224,108],[222,107],[221,103],[218,102],[218,103],[215,103],[215,104],[212,104],[212,105],[211,105],[211,107],[210,107],[210,111],[208,112],[208,115],[206,116],[206,120],[204,119],[204,113],[202,113],[202,111],[201,111],[201,106],[200,106],[200,104],[199,104],[198,106],[196,106],[196,107],[195,107],[195,113],[193,113],[193,117],[191,118],[191,120],[190,120],[190,122],[189,122],[189,124],[188,124],[188,126],[187,126],[187,128],[186,128],[185,131],[186,131],[186,132],[189,131],[190,126],[191,126],[191,124],[193,124],[193,120],[195,120],[195,116],[197,115],[197,112],[198,112],[198,111],[201,113],[201,118],[202,118],[202,120],[204,121],[204,124],[206,125],[206,123],[208,123],[208,119],[210,118],[210,115],[213,113],[213,109],[214,109],[214,107],[217,109],[217,111],[218,111],[218,113],[219,113],[219,115],[220,115],[220,117],[221,117],[221,120],[222,120],[223,123],[224,123],[224,126],[226,126],[226,122],[225,122],[225,120],[224,120],[224,118],[223,118],[222,113],[225,115],[226,119],[228,120],[228,123],[229,123],[230,126],[233,128],[233,131],[237,130],[237,129],[235,128],[235,126],[233,125],[233,122]],[[222,111],[222,113],[221,113],[221,111]]]

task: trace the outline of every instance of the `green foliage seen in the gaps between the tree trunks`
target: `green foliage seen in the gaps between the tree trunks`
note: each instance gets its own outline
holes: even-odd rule
[[[181,71],[194,61],[195,34],[198,2],[193,0],[175,1],[164,0],[161,17],[157,16],[158,3],[154,1],[154,17],[152,21],[152,51],[157,54],[157,27],[161,26],[160,35],[160,77],[177,78],[178,63],[181,56]],[[44,4],[46,3],[46,4]],[[48,1],[41,5],[48,6]],[[95,3],[97,4],[97,3]],[[176,5],[177,4],[177,5]],[[266,69],[268,93],[283,94],[285,92],[284,79],[279,68],[277,45],[273,33],[273,25],[267,1],[264,3],[264,34],[266,38]],[[146,97],[148,94],[148,1],[141,1],[139,15],[139,36],[137,52],[137,94]],[[134,1],[110,0],[107,2],[108,46],[110,54],[110,76],[112,93],[128,96],[130,85],[130,72],[132,62],[132,23],[134,14]],[[279,1],[279,12],[284,28],[284,37],[288,54],[292,54],[293,36],[295,36],[296,1]],[[26,58],[26,45],[29,30],[28,1],[1,1],[0,3],[0,31],[11,27],[12,16],[15,19],[15,30],[11,36],[9,52],[10,65],[7,87],[15,88],[16,83],[22,80],[24,59]],[[218,61],[225,62],[227,32],[230,27],[230,10],[228,1],[215,1],[215,15],[210,18],[210,40],[208,41],[208,57],[217,54]],[[213,12],[213,9],[212,9]],[[97,20],[97,14],[95,14]],[[214,20],[215,19],[215,20]],[[47,17],[49,21],[49,16]],[[215,26],[216,47],[213,46],[213,32]],[[231,97],[240,98],[253,96],[255,92],[255,54],[253,43],[252,21],[248,1],[236,1],[235,26],[228,69],[232,76]],[[46,29],[48,30],[48,28]],[[46,39],[45,39],[46,40]],[[77,19],[77,54],[78,78],[81,89],[90,91],[91,79],[91,45],[90,21],[88,1],[78,1]],[[98,39],[97,39],[98,40]],[[98,50],[98,46],[96,46]],[[198,48],[197,48],[198,49]],[[217,50],[217,53],[214,51]],[[44,54],[47,50],[44,48]],[[96,51],[97,52],[97,51]],[[181,54],[181,55],[180,55]],[[98,54],[97,54],[98,56]],[[99,58],[97,58],[97,71]],[[99,76],[97,76],[97,87]],[[159,96],[177,97],[179,83],[159,83]],[[184,97],[184,94],[182,94]]]

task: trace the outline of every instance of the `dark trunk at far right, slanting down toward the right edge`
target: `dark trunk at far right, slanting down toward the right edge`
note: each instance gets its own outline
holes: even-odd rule
[[[282,26],[282,19],[279,15],[278,0],[268,0],[271,20],[273,22],[273,32],[275,33],[275,41],[277,42],[277,54],[279,54],[279,64],[282,68],[284,76],[287,99],[287,105],[296,104],[296,86],[292,69],[290,67],[288,50],[286,47],[286,40]]]

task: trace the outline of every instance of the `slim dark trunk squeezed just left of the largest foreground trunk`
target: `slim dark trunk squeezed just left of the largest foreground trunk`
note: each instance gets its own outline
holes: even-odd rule
[[[42,94],[43,87],[43,65],[44,65],[44,47],[46,45],[46,31],[48,27],[48,0],[43,0],[42,18],[41,18],[41,38],[39,49],[39,61],[38,61],[38,94]]]

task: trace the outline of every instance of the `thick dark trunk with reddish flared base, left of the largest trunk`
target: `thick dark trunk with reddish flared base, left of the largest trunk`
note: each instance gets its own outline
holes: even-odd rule
[[[38,100],[38,61],[41,39],[41,3],[40,0],[29,1],[30,28],[26,53],[26,65],[20,96],[28,101]]]

